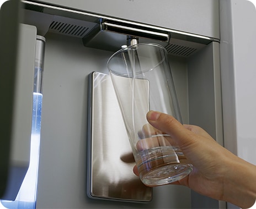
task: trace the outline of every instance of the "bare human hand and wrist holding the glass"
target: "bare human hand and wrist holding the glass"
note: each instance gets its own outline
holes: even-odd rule
[[[239,207],[254,204],[256,166],[233,155],[200,127],[182,125],[172,116],[153,111],[147,119],[152,127],[169,134],[194,166],[187,177],[173,184]],[[138,175],[136,167],[134,173]]]

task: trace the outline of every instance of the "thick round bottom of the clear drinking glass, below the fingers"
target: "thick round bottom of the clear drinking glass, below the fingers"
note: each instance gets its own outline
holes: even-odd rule
[[[143,184],[147,186],[170,184],[183,179],[189,175],[192,170],[193,166],[191,164],[167,164],[148,172],[141,180]]]

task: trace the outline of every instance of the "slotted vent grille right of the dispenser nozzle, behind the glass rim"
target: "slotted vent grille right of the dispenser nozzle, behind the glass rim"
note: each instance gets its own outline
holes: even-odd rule
[[[196,48],[182,46],[182,45],[169,44],[168,46],[166,46],[166,50],[170,54],[175,54],[177,56],[182,56],[182,57],[188,57],[196,51]]]

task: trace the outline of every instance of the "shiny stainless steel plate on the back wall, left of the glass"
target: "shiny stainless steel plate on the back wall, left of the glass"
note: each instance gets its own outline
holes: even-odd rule
[[[88,196],[151,201],[152,188],[132,172],[135,162],[110,76],[94,72],[89,80]]]

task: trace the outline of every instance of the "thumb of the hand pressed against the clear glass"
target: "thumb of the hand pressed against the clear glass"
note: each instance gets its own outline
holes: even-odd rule
[[[147,113],[147,120],[154,128],[172,136],[182,150],[188,149],[194,142],[194,133],[186,129],[178,120],[168,114],[150,111]]]

